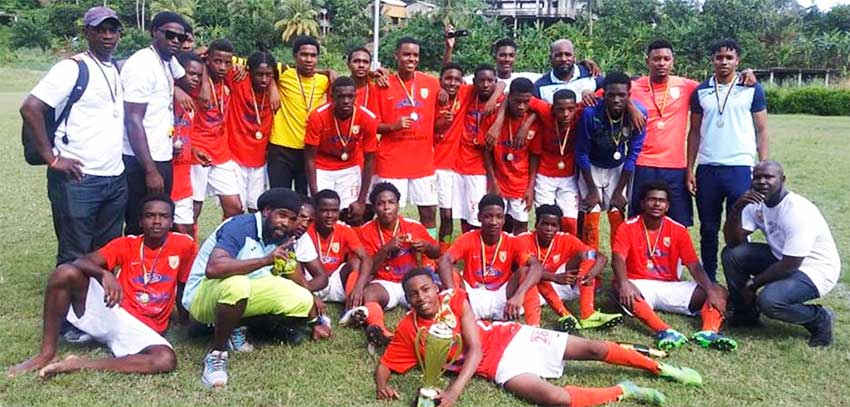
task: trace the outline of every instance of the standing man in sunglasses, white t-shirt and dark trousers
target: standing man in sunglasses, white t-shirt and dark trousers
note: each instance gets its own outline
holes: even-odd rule
[[[171,194],[174,149],[174,82],[186,72],[174,55],[186,41],[188,23],[170,11],[151,21],[151,46],[136,51],[121,69],[124,84],[124,165],[130,204],[125,233],[140,234],[136,205],[148,193]]]

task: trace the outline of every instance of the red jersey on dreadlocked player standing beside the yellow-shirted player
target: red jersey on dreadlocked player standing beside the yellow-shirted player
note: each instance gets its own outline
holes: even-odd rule
[[[269,144],[273,120],[274,112],[269,103],[268,91],[254,92],[250,77],[234,82],[227,118],[224,121],[233,160],[249,168],[266,165],[266,147]],[[257,132],[260,132],[259,139]]]

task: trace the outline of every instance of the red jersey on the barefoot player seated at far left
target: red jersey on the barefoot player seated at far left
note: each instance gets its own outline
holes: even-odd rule
[[[168,233],[159,249],[142,250],[142,236],[123,236],[98,250],[106,269],[120,267],[118,282],[124,290],[121,307],[159,333],[168,327],[174,309],[177,283],[185,283],[195,260],[196,246],[191,237]],[[140,258],[144,257],[142,261]],[[149,277],[145,283],[145,270]]]

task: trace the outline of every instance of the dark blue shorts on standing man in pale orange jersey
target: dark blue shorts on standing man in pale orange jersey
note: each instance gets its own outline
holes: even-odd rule
[[[684,226],[694,224],[694,206],[691,203],[691,194],[685,185],[687,176],[685,168],[658,168],[636,166],[632,178],[631,202],[629,202],[629,217],[640,213],[640,189],[643,184],[650,181],[664,181],[670,186],[670,211],[667,216]]]

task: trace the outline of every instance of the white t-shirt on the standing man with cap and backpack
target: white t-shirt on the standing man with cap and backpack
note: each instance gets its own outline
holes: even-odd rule
[[[124,134],[124,91],[118,69],[111,63],[96,62],[86,54],[78,54],[89,69],[89,83],[82,97],[59,123],[54,154],[83,163],[83,173],[96,176],[116,176],[124,172],[121,160],[121,139]],[[102,72],[101,72],[102,69]],[[53,65],[30,92],[62,114],[80,70],[77,62],[66,59]],[[67,135],[67,143],[63,137]]]

